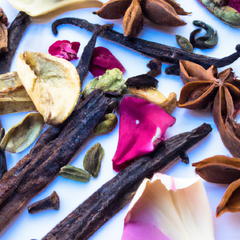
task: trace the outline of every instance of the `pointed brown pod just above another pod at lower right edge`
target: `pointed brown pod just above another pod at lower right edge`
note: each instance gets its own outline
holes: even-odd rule
[[[208,182],[230,184],[240,178],[240,158],[217,155],[193,163],[193,166],[195,172]]]

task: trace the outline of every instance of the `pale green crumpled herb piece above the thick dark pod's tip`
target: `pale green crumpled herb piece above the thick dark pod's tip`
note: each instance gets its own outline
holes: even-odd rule
[[[94,78],[83,90],[83,98],[86,98],[95,89],[101,89],[106,93],[116,96],[121,95],[122,91],[126,89],[122,72],[118,68],[114,68],[107,70],[104,75]]]

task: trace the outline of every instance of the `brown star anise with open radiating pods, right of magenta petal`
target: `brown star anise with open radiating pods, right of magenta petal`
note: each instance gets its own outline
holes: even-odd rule
[[[240,81],[231,68],[220,73],[196,63],[180,60],[180,77],[185,84],[178,107],[212,109],[213,119],[226,148],[240,157],[240,125],[235,118],[240,110]]]

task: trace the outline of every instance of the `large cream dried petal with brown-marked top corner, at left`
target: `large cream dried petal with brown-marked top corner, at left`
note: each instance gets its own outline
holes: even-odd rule
[[[17,72],[47,124],[60,124],[72,113],[80,94],[80,79],[72,63],[25,51],[18,58]]]

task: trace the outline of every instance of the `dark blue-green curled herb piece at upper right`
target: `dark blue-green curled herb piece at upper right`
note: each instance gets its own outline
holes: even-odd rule
[[[208,24],[199,20],[193,21],[193,25],[204,28],[206,30],[206,34],[203,37],[195,38],[196,34],[198,34],[201,31],[201,28],[200,29],[198,28],[197,30],[193,31],[190,34],[190,42],[193,45],[193,47],[200,49],[208,49],[216,46],[218,42],[217,31],[215,31]]]

